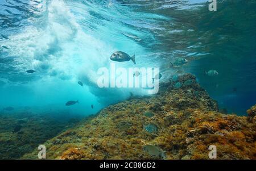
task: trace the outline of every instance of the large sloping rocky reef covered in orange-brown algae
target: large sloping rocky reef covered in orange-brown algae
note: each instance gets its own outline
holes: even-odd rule
[[[255,106],[248,113],[255,115]],[[154,96],[106,107],[44,145],[47,159],[209,159],[210,145],[217,159],[256,159],[256,124],[249,120],[218,112],[217,102],[185,74],[160,84]]]

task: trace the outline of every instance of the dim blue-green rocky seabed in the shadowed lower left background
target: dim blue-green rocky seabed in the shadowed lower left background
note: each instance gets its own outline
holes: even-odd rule
[[[29,111],[0,112],[0,159],[19,159],[80,122],[75,118],[60,120],[52,115]]]

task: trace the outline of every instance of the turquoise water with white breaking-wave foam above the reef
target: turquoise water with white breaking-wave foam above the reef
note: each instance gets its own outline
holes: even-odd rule
[[[160,67],[163,78],[195,74],[220,108],[245,114],[256,102],[256,2],[218,1],[217,11],[208,5],[203,0],[2,0],[0,33],[9,39],[0,38],[0,107],[89,115],[130,93],[144,94],[97,86],[97,70],[109,68],[110,55],[119,50],[135,54],[137,67]],[[167,65],[177,58],[188,62]],[[210,69],[219,74],[205,76]],[[65,106],[71,100],[79,103]]]

